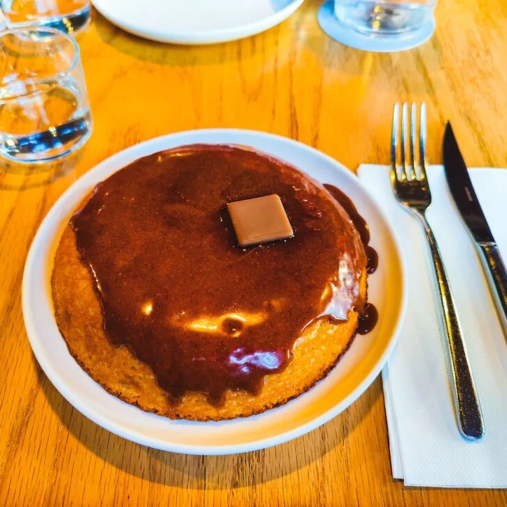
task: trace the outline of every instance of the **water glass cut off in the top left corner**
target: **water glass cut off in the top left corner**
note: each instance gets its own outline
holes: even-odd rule
[[[75,34],[91,19],[90,0],[0,0],[0,10],[8,28],[49,26]]]

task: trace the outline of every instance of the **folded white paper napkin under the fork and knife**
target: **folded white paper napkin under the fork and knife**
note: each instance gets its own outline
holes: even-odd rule
[[[507,170],[471,169],[474,189],[507,260]],[[359,178],[386,212],[407,260],[408,307],[398,345],[382,371],[394,478],[405,485],[507,487],[507,341],[474,244],[442,166],[430,166],[428,221],[455,299],[483,409],[485,436],[469,442],[456,424],[451,366],[423,229],[396,203],[386,166]]]

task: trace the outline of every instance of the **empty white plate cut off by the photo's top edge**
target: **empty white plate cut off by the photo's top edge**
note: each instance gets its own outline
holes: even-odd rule
[[[93,0],[107,19],[160,42],[211,44],[252,36],[289,17],[303,0]]]

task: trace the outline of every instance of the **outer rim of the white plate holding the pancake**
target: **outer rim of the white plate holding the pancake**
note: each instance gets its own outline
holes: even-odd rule
[[[34,262],[34,258],[36,257],[36,250],[39,247],[39,244],[44,244],[44,233],[45,228],[49,227],[50,224],[52,224],[53,218],[58,217],[59,214],[61,214],[61,210],[59,210],[59,203],[65,202],[66,199],[69,198],[69,196],[76,192],[77,188],[79,188],[80,185],[83,185],[83,182],[86,182],[86,180],[94,180],[94,176],[97,173],[100,173],[103,171],[104,167],[107,167],[111,164],[118,164],[116,161],[120,161],[122,157],[125,157],[125,155],[128,155],[132,153],[132,155],[136,154],[138,151],[143,152],[141,155],[137,154],[135,158],[143,157],[145,155],[148,155],[148,153],[155,153],[158,148],[158,143],[161,141],[165,141],[166,139],[178,139],[178,137],[187,137],[189,135],[219,135],[219,136],[226,136],[226,135],[232,135],[240,134],[240,135],[247,135],[250,137],[250,139],[253,137],[258,138],[270,138],[274,139],[275,141],[279,141],[282,143],[288,143],[295,144],[299,146],[299,148],[303,150],[309,151],[312,155],[317,157],[324,157],[327,159],[327,162],[329,162],[331,165],[338,166],[340,169],[340,173],[349,180],[353,180],[355,185],[359,185],[361,187],[361,191],[364,192],[369,198],[370,202],[373,204],[375,208],[375,212],[380,216],[380,219],[382,220],[384,226],[387,228],[391,235],[391,240],[393,242],[393,245],[398,253],[398,258],[400,260],[399,268],[400,268],[400,308],[398,309],[398,315],[395,324],[393,325],[393,332],[391,334],[391,337],[389,338],[389,342],[387,347],[385,348],[384,352],[380,355],[380,357],[377,358],[377,361],[375,361],[374,366],[371,368],[370,372],[364,379],[357,385],[357,387],[352,390],[352,392],[343,398],[340,403],[337,403],[333,407],[329,408],[327,411],[322,413],[320,416],[316,417],[315,419],[311,419],[310,421],[307,421],[306,423],[302,423],[301,425],[297,426],[296,428],[292,428],[291,430],[288,430],[286,432],[282,432],[276,435],[272,435],[270,437],[266,437],[263,439],[257,439],[252,442],[243,442],[243,443],[237,443],[237,444],[228,444],[228,445],[206,445],[203,446],[203,444],[182,444],[179,442],[161,442],[159,439],[155,437],[150,437],[148,435],[143,434],[142,432],[138,432],[137,430],[132,430],[130,428],[125,428],[122,426],[119,426],[114,421],[110,421],[107,416],[103,416],[99,412],[97,412],[93,407],[86,405],[86,403],[81,403],[81,400],[79,398],[73,398],[73,391],[72,388],[68,387],[68,385],[65,382],[65,379],[57,373],[52,366],[49,364],[47,360],[48,352],[45,350],[44,346],[42,345],[42,341],[40,338],[38,338],[38,331],[36,330],[36,324],[34,322],[33,313],[30,311],[31,303],[29,302],[29,271],[31,264]],[[200,141],[205,142],[205,141]],[[214,143],[217,143],[216,141]],[[224,144],[227,144],[226,141],[224,141]],[[232,144],[232,143],[231,143]],[[148,152],[146,148],[148,148],[150,145],[153,145],[155,148],[153,152]],[[177,144],[175,146],[178,146]],[[274,155],[276,156],[276,155]],[[134,159],[135,159],[134,158]],[[118,170],[120,170],[122,166],[118,166],[117,169],[111,172],[114,173]],[[92,169],[89,169],[85,173],[83,173],[77,180],[72,182],[72,185],[65,189],[65,191],[59,196],[59,198],[55,201],[55,203],[52,205],[52,208],[50,208],[49,212],[45,215],[44,219],[42,219],[40,226],[38,227],[38,230],[36,232],[36,235],[33,237],[33,241],[31,243],[31,247],[29,249],[29,253],[26,256],[26,262],[24,265],[24,272],[23,272],[23,279],[22,279],[22,312],[23,312],[23,318],[24,318],[24,324],[26,327],[26,334],[29,338],[29,342],[31,345],[31,348],[33,350],[33,354],[36,356],[36,359],[38,363],[40,364],[40,367],[42,370],[44,370],[45,375],[49,378],[49,380],[52,382],[54,387],[61,393],[61,395],[72,405],[72,407],[75,407],[81,414],[84,414],[88,419],[93,421],[94,423],[98,424],[98,426],[101,426],[102,428],[114,433],[115,435],[118,435],[119,437],[129,439],[132,442],[136,442],[141,445],[150,446],[153,448],[161,449],[164,451],[172,451],[176,453],[184,453],[184,454],[196,454],[196,455],[228,455],[228,454],[235,454],[235,453],[243,453],[248,451],[256,451],[262,448],[267,448],[270,446],[274,446],[277,444],[281,444],[283,442],[288,442],[291,439],[294,439],[296,437],[305,435],[307,432],[310,432],[311,430],[314,430],[315,428],[318,428],[322,426],[322,424],[327,423],[327,421],[333,419],[335,416],[343,412],[347,407],[352,405],[359,396],[361,396],[366,389],[370,386],[370,384],[375,380],[377,375],[379,375],[380,371],[384,367],[384,365],[387,363],[387,360],[389,359],[389,356],[391,352],[393,351],[394,347],[396,346],[396,342],[398,341],[398,336],[400,333],[400,327],[403,323],[403,318],[405,316],[405,310],[407,308],[407,269],[405,266],[405,260],[402,255],[402,250],[400,248],[400,243],[398,241],[398,237],[393,231],[393,228],[391,227],[391,224],[389,223],[389,220],[387,219],[384,211],[382,208],[380,208],[380,205],[377,203],[375,198],[373,198],[372,194],[364,187],[361,180],[352,172],[350,169],[345,167],[343,164],[332,158],[331,156],[321,152],[320,150],[317,150],[316,148],[313,148],[309,145],[306,145],[300,141],[296,141],[295,139],[289,139],[288,137],[283,137],[278,134],[272,134],[269,132],[262,132],[258,130],[245,130],[245,129],[234,129],[234,128],[206,128],[206,129],[196,129],[196,130],[185,130],[181,132],[174,132],[171,134],[165,134],[159,137],[154,137],[152,139],[148,139],[146,141],[142,141],[141,143],[134,144],[132,146],[129,146],[125,148],[124,150],[119,151],[118,153],[114,153],[110,157],[107,157],[106,159],[102,160],[95,166],[93,166]],[[61,339],[63,340],[63,336],[61,336]],[[66,345],[66,344],[65,344]],[[69,354],[70,358],[72,356]],[[93,380],[93,379],[92,379]],[[110,395],[113,396],[113,395]]]

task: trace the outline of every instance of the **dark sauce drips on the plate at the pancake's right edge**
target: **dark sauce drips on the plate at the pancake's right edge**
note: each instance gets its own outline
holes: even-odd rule
[[[343,194],[343,192],[334,187],[334,185],[329,185],[326,183],[324,185],[325,189],[333,198],[341,204],[341,207],[348,213],[350,220],[352,220],[352,224],[354,224],[355,228],[359,232],[361,236],[361,241],[364,245],[364,251],[366,252],[366,272],[368,274],[372,274],[377,270],[378,267],[378,253],[368,244],[370,242],[370,230],[368,229],[368,224],[366,224],[366,220],[361,217],[354,203],[350,200],[349,196]],[[361,309],[362,306],[362,309]],[[357,326],[357,332],[359,334],[367,334],[369,333],[378,320],[378,312],[375,306],[371,303],[358,304],[357,309],[360,311],[361,315],[359,315],[359,324]]]

